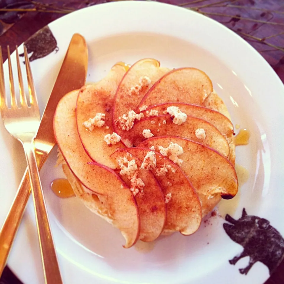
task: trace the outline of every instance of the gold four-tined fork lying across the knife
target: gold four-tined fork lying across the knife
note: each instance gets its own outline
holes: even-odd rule
[[[11,107],[7,105],[4,85],[3,59],[0,46],[0,110],[1,117],[7,131],[17,140],[19,140],[25,150],[25,156],[28,163],[28,172],[30,176],[30,185],[33,193],[33,203],[35,208],[35,217],[38,228],[38,237],[41,248],[43,261],[43,271],[46,283],[59,284],[62,283],[59,265],[57,261],[54,243],[51,235],[49,219],[46,212],[46,205],[43,198],[43,191],[39,179],[38,167],[34,152],[34,137],[40,123],[40,113],[38,102],[33,83],[33,77],[28,59],[28,53],[24,46],[26,72],[28,78],[29,101],[30,106],[25,96],[22,72],[20,68],[19,54],[16,47],[17,69],[20,89],[20,107],[17,105],[15,96],[14,79],[12,73],[12,64],[10,58],[9,46],[8,49],[8,66],[9,66],[9,83]]]

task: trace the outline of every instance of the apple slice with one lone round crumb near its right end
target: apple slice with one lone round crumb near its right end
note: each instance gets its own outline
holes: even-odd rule
[[[166,123],[164,123],[164,121]],[[195,131],[199,128],[205,130],[206,137],[204,140],[197,138],[195,135]],[[146,140],[143,136],[144,129],[150,129],[154,136],[175,135],[200,142],[205,146],[215,149],[225,157],[228,157],[230,153],[229,144],[226,138],[215,126],[200,118],[187,117],[187,120],[181,125],[173,123],[169,114],[140,120],[134,124],[130,131],[128,131],[128,139],[134,146],[137,146],[139,143]]]

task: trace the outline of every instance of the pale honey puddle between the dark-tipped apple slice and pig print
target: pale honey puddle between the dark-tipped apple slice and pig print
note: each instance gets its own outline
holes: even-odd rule
[[[236,164],[235,165],[238,183],[239,183],[239,190],[235,197],[229,200],[222,199],[218,204],[218,212],[222,218],[225,218],[226,214],[233,215],[238,207],[240,197],[241,197],[241,187],[248,181],[249,179],[249,171]]]

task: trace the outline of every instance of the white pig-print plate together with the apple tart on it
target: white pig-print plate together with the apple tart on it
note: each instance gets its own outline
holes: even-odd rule
[[[41,170],[63,282],[264,283],[284,257],[284,87],[269,64],[223,25],[151,1],[45,29],[54,49],[31,62],[42,111],[74,33],[89,54]],[[1,126],[0,224],[25,167],[9,139]],[[8,265],[44,283],[32,200]]]

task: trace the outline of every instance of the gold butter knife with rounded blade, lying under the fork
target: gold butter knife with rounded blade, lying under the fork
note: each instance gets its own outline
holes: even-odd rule
[[[86,81],[88,48],[82,35],[72,36],[61,69],[53,86],[41,123],[35,136],[35,156],[40,170],[51,149],[56,144],[53,133],[53,116],[59,100],[68,92],[80,89]],[[0,231],[0,276],[5,267],[10,248],[20,225],[30,195],[28,169],[22,178],[16,197]],[[42,248],[41,248],[42,249]],[[43,259],[42,259],[43,261]],[[44,266],[43,266],[44,267]],[[45,268],[45,279],[53,271]],[[56,283],[54,283],[56,284]]]

